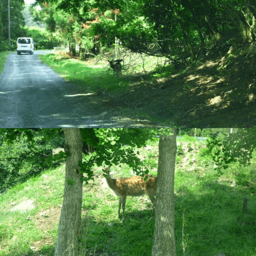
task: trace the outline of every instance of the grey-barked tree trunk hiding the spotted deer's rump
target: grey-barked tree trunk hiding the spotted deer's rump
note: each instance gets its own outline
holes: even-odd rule
[[[176,132],[159,140],[155,230],[152,256],[176,256],[174,235],[174,170]]]

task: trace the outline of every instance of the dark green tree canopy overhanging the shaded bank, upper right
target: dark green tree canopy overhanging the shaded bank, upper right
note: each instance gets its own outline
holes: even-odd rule
[[[255,41],[252,0],[98,0],[95,6],[120,9],[115,33],[134,52],[185,60],[223,44]]]

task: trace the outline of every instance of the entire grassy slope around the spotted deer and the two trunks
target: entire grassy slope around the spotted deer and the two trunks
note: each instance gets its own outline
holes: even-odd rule
[[[140,157],[151,173],[156,174],[158,139],[147,144],[146,148],[139,149]],[[232,256],[255,256],[255,152],[250,166],[240,167],[234,163],[218,176],[204,143],[183,140],[177,144],[181,145],[175,167],[177,255],[183,255],[184,225],[184,255],[213,256],[224,251]],[[87,213],[88,218],[83,217],[80,252],[85,252],[86,246],[86,255],[94,255],[94,252],[102,256],[151,255],[154,220],[148,221],[152,210],[150,200],[128,197],[125,221],[120,223],[120,219],[116,219],[118,198],[112,190],[102,186],[102,169],[95,166],[93,171],[94,181],[83,187],[83,216]],[[126,165],[111,166],[110,171],[113,178],[133,175]],[[0,195],[0,256],[53,255],[58,218],[53,219],[52,215],[60,214],[63,186],[64,166],[47,170]],[[242,212],[244,197],[248,198],[247,213]],[[10,211],[12,202],[26,198],[35,200],[34,209],[25,213]],[[44,212],[45,217],[39,214]],[[86,223],[88,233],[85,236]],[[40,252],[33,252],[30,246],[40,248]]]

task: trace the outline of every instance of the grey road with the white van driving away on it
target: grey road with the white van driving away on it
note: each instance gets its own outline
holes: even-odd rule
[[[111,118],[108,110],[92,108],[91,97],[96,96],[43,64],[37,55],[46,52],[8,55],[0,75],[0,127],[129,126],[127,120]]]

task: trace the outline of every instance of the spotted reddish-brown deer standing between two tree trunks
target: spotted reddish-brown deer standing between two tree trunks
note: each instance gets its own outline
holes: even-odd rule
[[[153,218],[154,212],[155,212],[155,190],[156,190],[156,182],[157,177],[154,175],[145,175],[148,176],[146,180],[144,180],[144,177],[141,176],[133,176],[128,178],[117,178],[113,179],[110,177],[110,166],[105,168],[103,166],[103,169],[105,172],[107,172],[108,176],[105,177],[107,180],[108,186],[114,191],[114,193],[119,196],[119,208],[116,218],[119,218],[120,215],[120,208],[122,204],[123,209],[123,217],[122,221],[125,219],[125,203],[126,203],[126,197],[139,197],[141,195],[148,195],[149,199],[151,200],[153,204],[153,210],[151,213],[151,217],[149,220]]]

